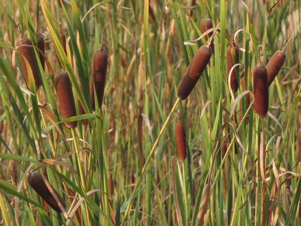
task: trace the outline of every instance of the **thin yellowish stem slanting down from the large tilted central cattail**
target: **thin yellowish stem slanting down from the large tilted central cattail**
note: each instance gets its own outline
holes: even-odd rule
[[[167,119],[166,119],[166,121],[165,121],[165,123],[164,123],[164,125],[163,125],[163,127],[162,127],[162,129],[161,129],[161,131],[160,131],[160,133],[159,133],[159,135],[158,135],[157,140],[156,140],[155,143],[154,143],[154,146],[153,146],[152,150],[150,150],[150,152],[149,152],[149,155],[148,155],[148,157],[147,157],[147,159],[146,159],[146,161],[145,161],[145,164],[144,164],[144,166],[143,166],[143,168],[142,168],[142,172],[141,172],[141,174],[140,174],[140,176],[138,177],[138,180],[137,180],[137,182],[136,182],[136,185],[135,185],[135,188],[134,188],[134,190],[133,190],[133,193],[132,193],[132,195],[130,196],[129,202],[128,202],[128,204],[127,204],[127,207],[126,207],[126,210],[125,210],[125,213],[124,213],[124,217],[123,217],[122,222],[121,222],[121,226],[123,226],[124,223],[125,223],[126,216],[127,216],[127,214],[128,214],[129,208],[130,208],[130,206],[131,206],[131,204],[132,204],[132,202],[133,202],[133,199],[134,199],[134,196],[135,196],[135,194],[136,194],[136,191],[137,191],[137,189],[138,189],[138,187],[139,187],[139,185],[140,185],[140,183],[141,183],[142,176],[143,176],[143,174],[144,174],[145,171],[146,171],[146,167],[147,167],[148,163],[150,162],[150,160],[152,159],[152,156],[153,156],[154,153],[155,153],[155,150],[156,150],[156,148],[157,148],[157,146],[158,146],[158,144],[159,144],[159,141],[160,141],[160,139],[161,139],[161,137],[162,137],[162,135],[163,135],[163,132],[164,132],[164,130],[166,129],[168,123],[170,122],[170,120],[171,120],[171,118],[172,118],[172,116],[173,116],[173,114],[174,114],[174,111],[176,110],[176,108],[177,108],[177,106],[178,106],[180,100],[181,100],[180,98],[178,98],[178,99],[176,100],[176,102],[175,102],[175,104],[174,104],[174,106],[173,106],[173,108],[172,108],[172,110],[171,110],[169,116],[167,117]]]

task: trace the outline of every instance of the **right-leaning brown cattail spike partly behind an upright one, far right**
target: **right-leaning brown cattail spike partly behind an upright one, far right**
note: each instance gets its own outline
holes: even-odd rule
[[[271,59],[266,64],[268,86],[270,86],[274,81],[276,75],[284,64],[285,58],[285,53],[281,50],[278,50],[272,55]]]

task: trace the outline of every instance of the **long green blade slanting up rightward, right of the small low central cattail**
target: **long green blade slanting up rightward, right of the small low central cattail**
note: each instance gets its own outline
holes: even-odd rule
[[[219,100],[217,115],[219,115],[220,111],[221,111],[221,100],[222,100],[222,98],[220,98],[220,100]],[[197,219],[199,207],[200,207],[200,204],[201,204],[201,198],[202,198],[202,192],[203,192],[204,185],[205,185],[205,180],[207,178],[207,174],[208,174],[209,169],[210,169],[210,158],[211,158],[211,155],[212,155],[212,152],[213,152],[213,144],[214,144],[214,141],[215,141],[215,138],[216,138],[216,133],[217,133],[217,128],[218,128],[218,125],[219,125],[219,121],[220,121],[219,117],[216,117],[215,122],[214,122],[214,126],[213,126],[213,130],[212,130],[212,137],[211,137],[210,145],[209,145],[209,148],[208,148],[208,153],[206,154],[206,159],[204,161],[202,179],[201,179],[201,182],[200,182],[200,186],[199,186],[199,190],[198,190],[198,194],[197,194],[197,198],[196,198],[196,203],[195,203],[194,210],[193,210],[192,223],[191,223],[192,226],[195,226],[195,224],[196,224],[196,219]]]

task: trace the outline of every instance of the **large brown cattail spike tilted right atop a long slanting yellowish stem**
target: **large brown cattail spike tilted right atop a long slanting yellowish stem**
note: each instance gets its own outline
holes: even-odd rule
[[[211,56],[212,50],[208,46],[204,45],[199,48],[178,86],[177,96],[180,99],[183,100],[189,96],[210,61]]]

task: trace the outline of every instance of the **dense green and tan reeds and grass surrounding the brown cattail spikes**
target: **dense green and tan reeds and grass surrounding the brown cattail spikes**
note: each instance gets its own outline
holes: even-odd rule
[[[273,8],[274,3],[4,1],[0,225],[301,225],[301,5],[282,0]],[[17,21],[36,45],[36,14],[37,29],[49,45],[45,72],[39,63],[43,87],[38,91],[27,86],[15,49]],[[179,101],[177,86],[206,43],[191,41],[202,35],[204,18],[219,28],[215,52],[191,95]],[[67,54],[60,30],[69,40]],[[241,64],[234,94],[225,58],[233,34]],[[253,100],[257,49],[270,57],[291,36],[285,64],[269,88],[269,115],[261,120],[253,104],[246,106],[247,95]],[[102,37],[109,55],[104,105],[92,112],[91,60]],[[61,122],[54,88],[58,61],[69,74],[75,102],[78,98],[88,112],[70,119],[79,121],[73,130]],[[178,110],[188,142],[183,164],[176,155]],[[81,125],[82,119],[89,124]],[[257,161],[259,152],[265,152],[266,164]],[[32,170],[47,172],[66,200],[64,214],[37,197],[26,179]]]

